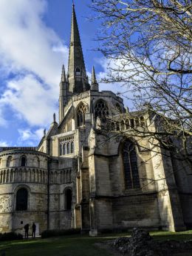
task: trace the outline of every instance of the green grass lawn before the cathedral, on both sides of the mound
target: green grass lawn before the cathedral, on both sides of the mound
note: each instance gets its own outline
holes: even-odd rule
[[[160,240],[192,240],[192,230],[187,232],[151,232]],[[100,237],[73,235],[49,239],[20,240],[0,244],[0,256],[109,256],[105,249],[99,249],[95,243],[105,242],[114,237],[128,236],[130,233],[109,234]]]

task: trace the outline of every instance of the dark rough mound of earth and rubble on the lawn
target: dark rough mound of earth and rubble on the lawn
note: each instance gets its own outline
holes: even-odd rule
[[[154,240],[143,229],[134,229],[131,237],[119,237],[96,243],[117,256],[192,256],[192,241]]]

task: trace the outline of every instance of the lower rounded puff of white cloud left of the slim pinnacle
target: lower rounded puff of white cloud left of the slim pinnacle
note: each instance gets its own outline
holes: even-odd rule
[[[30,125],[47,125],[52,113],[58,111],[55,99],[58,95],[53,88],[47,89],[33,75],[12,79],[1,97],[1,103],[10,105],[18,117]]]

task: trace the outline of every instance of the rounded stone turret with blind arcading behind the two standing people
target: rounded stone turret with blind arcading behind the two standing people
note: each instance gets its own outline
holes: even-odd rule
[[[0,232],[47,229],[47,154],[27,149],[0,153]],[[31,226],[31,225],[30,225]]]

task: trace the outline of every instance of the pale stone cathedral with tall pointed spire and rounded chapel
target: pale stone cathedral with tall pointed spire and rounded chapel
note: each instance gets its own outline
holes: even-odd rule
[[[59,86],[58,122],[54,114],[38,147],[0,148],[0,232],[32,222],[40,234],[191,227],[190,168],[135,134],[157,128],[147,109],[130,112],[120,96],[100,91],[94,67],[89,82],[74,5]]]

